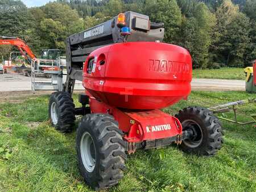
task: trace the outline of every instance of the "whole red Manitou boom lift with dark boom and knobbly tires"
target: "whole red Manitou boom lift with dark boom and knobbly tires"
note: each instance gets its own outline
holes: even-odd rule
[[[223,143],[213,112],[187,107],[172,116],[161,108],[191,93],[192,59],[179,46],[161,43],[163,23],[125,12],[68,37],[64,91],[49,99],[49,118],[61,132],[76,135],[79,170],[93,189],[117,185],[126,153],[179,144],[195,155],[212,156]],[[75,81],[82,81],[82,107],[75,108]],[[171,160],[170,160],[171,161]]]

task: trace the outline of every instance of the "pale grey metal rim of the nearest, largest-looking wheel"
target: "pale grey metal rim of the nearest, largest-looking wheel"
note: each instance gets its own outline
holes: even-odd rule
[[[88,172],[93,172],[96,164],[96,148],[90,133],[85,132],[80,141],[82,164]]]

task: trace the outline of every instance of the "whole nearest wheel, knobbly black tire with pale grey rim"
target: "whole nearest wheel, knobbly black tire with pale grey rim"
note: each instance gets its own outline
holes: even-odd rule
[[[79,170],[94,190],[117,185],[126,169],[125,141],[118,123],[108,114],[85,115],[76,136]]]

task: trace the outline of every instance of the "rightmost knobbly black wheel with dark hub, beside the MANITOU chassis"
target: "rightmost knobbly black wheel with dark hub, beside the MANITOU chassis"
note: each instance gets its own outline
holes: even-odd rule
[[[211,111],[201,107],[188,107],[175,115],[183,130],[191,129],[193,138],[184,140],[180,148],[195,155],[212,156],[221,149],[223,131],[221,122]]]

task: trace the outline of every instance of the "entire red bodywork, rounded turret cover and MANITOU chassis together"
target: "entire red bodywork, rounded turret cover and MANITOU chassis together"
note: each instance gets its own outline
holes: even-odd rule
[[[192,61],[186,49],[155,42],[117,43],[90,53],[83,69],[91,112],[113,115],[125,140],[176,136],[179,142],[181,123],[159,108],[187,99],[191,92]]]

